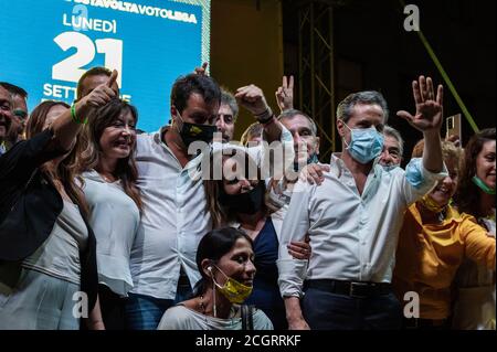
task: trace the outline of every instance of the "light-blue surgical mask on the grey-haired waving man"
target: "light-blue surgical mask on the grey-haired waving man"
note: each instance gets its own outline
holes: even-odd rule
[[[343,141],[348,152],[355,160],[366,164],[381,154],[383,150],[383,135],[379,134],[374,127],[351,129],[346,122],[343,125],[352,134],[350,143]]]

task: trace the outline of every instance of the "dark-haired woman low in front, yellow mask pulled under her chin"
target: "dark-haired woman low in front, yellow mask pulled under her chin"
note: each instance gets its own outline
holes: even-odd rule
[[[158,330],[241,330],[241,303],[250,296],[255,275],[251,237],[225,227],[199,243],[197,267],[202,276],[195,297],[169,308]],[[262,310],[252,310],[254,330],[272,330]]]

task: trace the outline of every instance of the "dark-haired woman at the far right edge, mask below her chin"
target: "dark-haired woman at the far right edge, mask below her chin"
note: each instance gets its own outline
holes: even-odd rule
[[[461,212],[472,214],[495,237],[495,128],[472,137],[465,148],[465,167],[454,198]],[[456,284],[453,328],[496,329],[495,270],[466,260]]]

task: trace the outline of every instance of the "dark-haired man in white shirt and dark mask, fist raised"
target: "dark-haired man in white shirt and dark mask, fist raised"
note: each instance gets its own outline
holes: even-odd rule
[[[260,88],[239,88],[235,97],[264,125],[269,143],[284,138]],[[202,180],[192,175],[210,147],[200,153],[193,147],[212,141],[220,102],[221,90],[212,77],[180,77],[171,92],[172,124],[137,137],[137,185],[145,210],[130,257],[134,289],[126,307],[130,329],[156,329],[166,309],[184,300],[200,279],[197,246],[212,224]]]

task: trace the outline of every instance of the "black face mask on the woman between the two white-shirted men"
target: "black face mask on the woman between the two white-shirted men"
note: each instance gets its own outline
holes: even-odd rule
[[[264,181],[258,181],[257,185],[245,193],[226,194],[221,189],[219,202],[221,205],[230,209],[235,213],[255,214],[264,205],[264,194],[266,193],[266,184]]]

